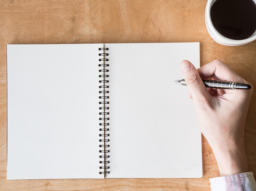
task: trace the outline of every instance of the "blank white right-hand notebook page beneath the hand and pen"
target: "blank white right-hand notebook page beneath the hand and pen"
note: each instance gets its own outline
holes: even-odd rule
[[[199,68],[199,43],[105,44],[110,56],[110,174],[202,177],[201,133],[182,60]]]

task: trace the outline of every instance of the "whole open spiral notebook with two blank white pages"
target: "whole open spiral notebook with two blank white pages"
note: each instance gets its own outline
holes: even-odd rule
[[[7,45],[7,179],[202,177],[199,43]]]

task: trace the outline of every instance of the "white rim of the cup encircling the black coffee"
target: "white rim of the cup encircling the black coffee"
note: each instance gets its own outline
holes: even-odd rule
[[[207,18],[209,18],[208,25],[209,25],[209,27],[211,27],[211,30],[213,30],[214,35],[217,38],[219,38],[221,41],[223,41],[223,43],[229,43],[229,44],[246,44],[246,43],[250,43],[251,41],[256,39],[256,34],[250,38],[246,38],[246,39],[242,39],[242,40],[230,39],[230,38],[227,38],[227,37],[224,37],[223,35],[221,35],[220,32],[215,29],[215,27],[213,26],[213,23],[212,23],[212,19],[211,19],[211,8],[212,8],[212,4],[213,4],[212,2],[213,2],[213,0],[207,2],[207,4],[208,3],[209,4],[208,4],[208,6],[206,6],[206,16],[207,16]]]

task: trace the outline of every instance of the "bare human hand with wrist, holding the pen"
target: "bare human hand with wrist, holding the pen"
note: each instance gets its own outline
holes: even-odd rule
[[[189,61],[182,61],[181,70],[196,105],[199,128],[212,147],[220,175],[247,172],[244,128],[253,87],[249,90],[206,88],[201,79],[250,84],[220,60],[197,70]]]

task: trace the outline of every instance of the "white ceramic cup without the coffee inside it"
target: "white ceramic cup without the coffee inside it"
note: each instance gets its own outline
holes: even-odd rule
[[[243,39],[243,40],[233,40],[227,37],[224,37],[221,35],[213,26],[212,19],[211,19],[211,8],[214,2],[217,0],[208,0],[206,4],[206,9],[205,9],[205,23],[206,23],[206,28],[213,38],[213,40],[216,41],[216,43],[219,43],[221,45],[226,45],[226,46],[239,46],[239,45],[244,45],[247,43],[251,43],[251,41],[256,40],[256,31],[254,34],[252,34],[249,38]],[[253,0],[256,3],[256,0]]]

